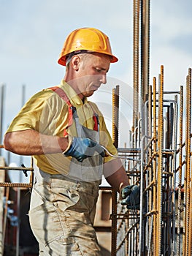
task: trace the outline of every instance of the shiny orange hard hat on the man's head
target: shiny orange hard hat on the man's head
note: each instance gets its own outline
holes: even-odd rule
[[[111,56],[111,63],[118,61],[118,58],[112,55],[110,39],[106,34],[99,29],[82,28],[72,31],[66,38],[58,64],[66,66],[66,56],[69,56],[69,53],[80,53],[81,51],[104,53]]]

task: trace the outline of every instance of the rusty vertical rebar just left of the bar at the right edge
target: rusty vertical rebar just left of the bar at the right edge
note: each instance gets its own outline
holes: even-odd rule
[[[178,210],[177,210],[177,256],[181,255],[181,188],[183,166],[183,86],[180,86],[180,151],[179,151],[179,177],[178,177]]]

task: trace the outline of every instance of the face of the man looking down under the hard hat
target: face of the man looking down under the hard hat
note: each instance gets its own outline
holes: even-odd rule
[[[107,83],[106,75],[109,68],[109,56],[101,53],[88,54],[86,58],[80,56],[75,90],[81,99],[90,97],[102,83]]]

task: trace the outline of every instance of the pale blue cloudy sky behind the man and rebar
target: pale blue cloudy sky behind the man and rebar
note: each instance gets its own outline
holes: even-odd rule
[[[110,37],[112,51],[119,58],[110,67],[110,81],[120,84],[122,102],[131,105],[132,2],[0,0],[0,83],[6,84],[4,130],[20,110],[23,85],[28,99],[60,83],[64,67],[57,59],[64,39],[72,30],[85,26],[101,29]],[[185,84],[188,67],[192,66],[191,10],[191,0],[151,1],[150,81],[158,77],[163,64],[165,89],[175,90]],[[110,83],[101,89],[95,98],[104,108],[112,86]],[[130,111],[122,110],[122,115],[128,119]],[[110,116],[107,119],[110,121]]]

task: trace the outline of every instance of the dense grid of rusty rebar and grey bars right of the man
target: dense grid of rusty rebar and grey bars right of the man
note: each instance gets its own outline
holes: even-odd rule
[[[141,133],[141,126],[145,124],[146,135],[131,136],[131,140],[140,138],[140,142],[131,141],[131,145],[140,148],[124,148],[123,151],[119,148],[119,155],[141,159],[123,163],[130,183],[142,184],[140,211],[127,210],[118,204],[121,218],[118,219],[117,214],[117,255],[121,256],[192,253],[191,69],[185,106],[183,86],[180,91],[164,91],[163,66],[158,84],[156,91],[156,78],[153,78],[153,91],[152,86],[149,87],[147,113],[142,116],[147,124],[139,121],[140,127],[134,129]]]

